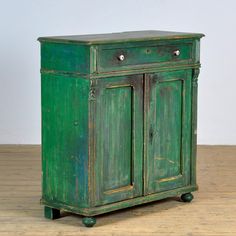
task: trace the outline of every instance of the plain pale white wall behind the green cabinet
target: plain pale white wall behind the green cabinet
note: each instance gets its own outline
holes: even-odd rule
[[[39,36],[202,32],[200,144],[236,144],[236,1],[0,1],[0,143],[40,143]]]

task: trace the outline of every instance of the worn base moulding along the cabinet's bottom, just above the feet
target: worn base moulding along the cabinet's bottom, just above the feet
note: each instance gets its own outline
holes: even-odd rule
[[[169,191],[165,191],[161,193],[150,194],[147,196],[132,198],[132,199],[128,199],[128,200],[124,200],[124,201],[120,201],[120,202],[116,202],[112,204],[107,204],[103,206],[92,207],[92,208],[80,208],[80,207],[75,207],[75,206],[72,207],[65,203],[55,202],[55,200],[51,202],[46,199],[41,199],[40,203],[48,207],[60,209],[67,212],[72,212],[75,214],[80,214],[83,216],[95,216],[95,215],[100,215],[100,214],[104,214],[104,213],[115,211],[115,210],[120,210],[124,208],[133,207],[136,205],[141,205],[141,204],[161,200],[168,197],[174,197],[180,194],[196,191],[197,189],[198,189],[197,185],[192,185],[192,186],[177,188],[177,189],[173,189],[173,190],[169,190]]]

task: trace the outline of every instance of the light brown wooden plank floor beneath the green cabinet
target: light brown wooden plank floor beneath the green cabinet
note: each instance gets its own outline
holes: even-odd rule
[[[94,228],[77,215],[44,219],[40,165],[39,146],[0,146],[0,236],[236,235],[236,146],[198,148],[192,203],[172,198],[121,210],[97,217]]]

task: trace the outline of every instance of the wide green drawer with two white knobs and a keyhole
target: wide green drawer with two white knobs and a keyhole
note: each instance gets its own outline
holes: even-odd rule
[[[164,63],[191,63],[192,43],[124,48],[102,48],[98,51],[98,71],[144,68]]]

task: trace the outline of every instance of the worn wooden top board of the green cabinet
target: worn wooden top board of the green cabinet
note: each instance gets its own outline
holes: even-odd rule
[[[201,33],[184,33],[158,30],[145,31],[130,31],[110,34],[88,34],[88,35],[70,35],[70,36],[54,36],[40,37],[38,40],[50,42],[67,42],[67,43],[82,43],[82,44],[104,44],[117,43],[124,41],[149,41],[149,40],[164,40],[164,39],[184,39],[184,38],[201,38],[204,34]]]

